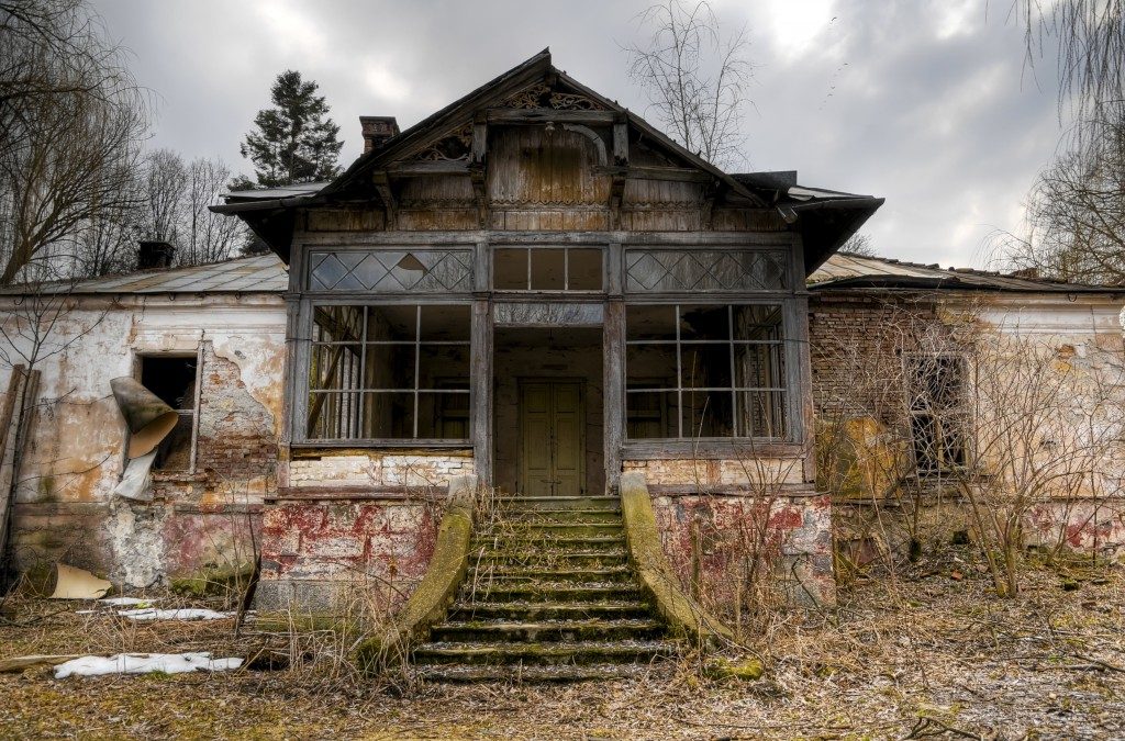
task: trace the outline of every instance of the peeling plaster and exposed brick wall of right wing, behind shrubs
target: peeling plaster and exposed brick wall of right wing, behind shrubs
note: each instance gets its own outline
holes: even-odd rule
[[[894,423],[893,415],[888,417],[886,413],[903,403],[904,392],[888,383],[878,398],[868,397],[857,389],[867,387],[848,379],[840,372],[840,364],[834,363],[834,354],[824,352],[830,347],[852,349],[868,359],[868,373],[874,373],[880,362],[886,368],[898,365],[899,345],[909,343],[909,332],[901,332],[898,343],[893,333],[886,332],[889,317],[894,317],[898,329],[906,328],[903,315],[894,306],[914,309],[919,316],[928,314],[933,323],[971,319],[973,331],[996,347],[982,355],[984,362],[978,373],[987,373],[989,368],[1006,372],[1005,361],[1026,352],[1027,343],[1052,352],[1055,362],[1044,372],[1058,374],[1063,417],[1073,421],[1073,436],[1055,443],[1065,446],[1083,436],[1110,442],[1092,466],[1091,475],[1081,477],[1077,487],[1054,491],[1053,499],[1046,498],[1029,509],[1024,521],[1025,541],[1045,546],[1061,543],[1078,551],[1096,550],[1120,558],[1125,553],[1123,302],[1116,295],[933,291],[896,296],[840,291],[816,296],[810,305],[814,408],[821,419],[871,415]],[[970,530],[958,501],[952,488],[943,493],[927,484],[917,514],[924,542],[948,542],[953,532]],[[875,528],[865,503],[834,501],[844,540],[854,541],[856,548],[865,541],[863,548],[904,549],[909,540],[907,522],[914,522],[916,515],[894,501],[884,504],[889,505],[881,508],[884,521]],[[874,543],[872,537],[880,542]]]

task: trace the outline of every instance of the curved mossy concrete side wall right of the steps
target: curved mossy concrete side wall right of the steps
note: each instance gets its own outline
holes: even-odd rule
[[[621,513],[629,560],[672,632],[700,644],[714,643],[720,638],[732,640],[734,635],[727,626],[684,594],[668,567],[660,548],[652,500],[641,473],[633,471],[621,477]]]

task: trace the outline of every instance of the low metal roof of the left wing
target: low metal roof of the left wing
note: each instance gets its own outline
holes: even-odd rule
[[[143,270],[126,275],[106,275],[71,283],[43,286],[48,293],[280,293],[289,275],[277,255],[254,255],[192,268]],[[6,293],[26,292],[9,287]]]

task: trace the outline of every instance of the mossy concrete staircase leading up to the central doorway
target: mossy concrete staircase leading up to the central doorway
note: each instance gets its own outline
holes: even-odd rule
[[[414,649],[436,681],[630,676],[677,644],[629,567],[618,497],[503,497],[447,620]]]

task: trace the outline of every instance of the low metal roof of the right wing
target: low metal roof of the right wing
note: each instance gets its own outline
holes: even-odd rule
[[[844,288],[993,290],[1048,293],[1120,292],[1119,286],[1068,283],[972,268],[942,268],[888,257],[837,252],[811,275],[814,290]]]

